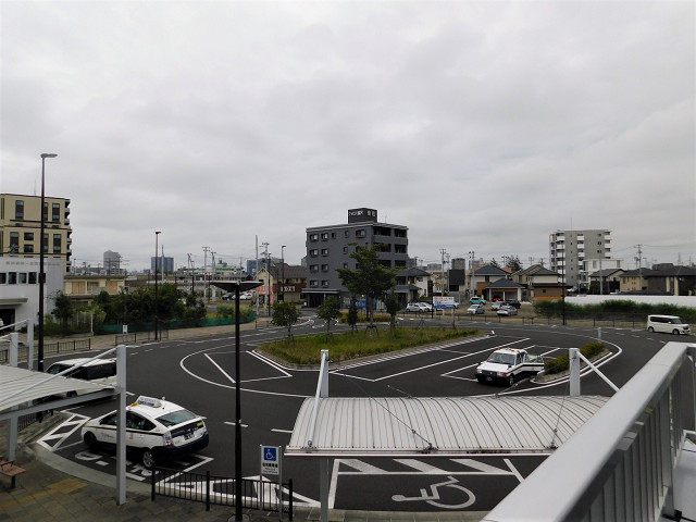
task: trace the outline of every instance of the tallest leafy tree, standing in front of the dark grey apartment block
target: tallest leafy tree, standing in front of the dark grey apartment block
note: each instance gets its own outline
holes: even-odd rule
[[[386,291],[396,284],[396,271],[380,262],[381,246],[382,244],[375,244],[371,248],[357,247],[350,254],[356,260],[356,270],[336,269],[340,282],[351,294],[365,297],[370,328],[374,328],[375,299],[384,299]]]

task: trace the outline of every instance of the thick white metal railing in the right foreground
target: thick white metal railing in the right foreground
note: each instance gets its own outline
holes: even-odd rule
[[[696,417],[696,346],[667,344],[484,521],[657,521]]]

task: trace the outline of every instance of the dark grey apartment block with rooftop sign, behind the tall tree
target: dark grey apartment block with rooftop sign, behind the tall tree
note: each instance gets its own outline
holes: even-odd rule
[[[316,307],[330,296],[341,298],[344,304],[350,294],[343,286],[336,269],[356,270],[350,257],[357,247],[381,245],[380,261],[390,269],[406,269],[408,227],[380,223],[377,211],[359,208],[348,210],[348,223],[307,228],[307,287],[302,294],[310,307]]]

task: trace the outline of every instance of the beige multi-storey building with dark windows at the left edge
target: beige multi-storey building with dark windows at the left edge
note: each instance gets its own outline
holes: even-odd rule
[[[39,257],[40,207],[40,196],[0,194],[0,256]],[[72,233],[70,199],[45,197],[45,259],[62,259],[65,273],[70,272],[72,265]]]

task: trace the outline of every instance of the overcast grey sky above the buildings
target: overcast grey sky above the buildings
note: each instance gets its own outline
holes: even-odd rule
[[[11,1],[2,192],[71,200],[73,262],[287,262],[368,207],[409,254],[548,262],[607,228],[696,262],[695,3]],[[209,257],[210,260],[210,257]]]

